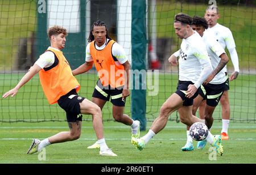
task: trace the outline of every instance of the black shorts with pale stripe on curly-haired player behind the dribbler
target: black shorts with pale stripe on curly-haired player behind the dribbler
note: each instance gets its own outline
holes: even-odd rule
[[[221,96],[224,92],[224,89],[226,87],[226,82],[221,84],[210,84],[207,85],[201,85],[199,88],[199,95],[204,98],[204,100],[207,100],[208,106],[217,106],[218,102],[221,99]]]

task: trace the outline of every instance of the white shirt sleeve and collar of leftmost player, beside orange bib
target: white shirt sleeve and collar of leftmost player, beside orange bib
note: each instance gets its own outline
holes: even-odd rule
[[[48,47],[48,49],[49,48],[55,49],[52,47]],[[55,50],[59,50],[59,49],[55,49]],[[44,67],[46,68],[46,67],[53,65],[54,61],[55,61],[54,53],[51,51],[47,51],[47,52],[44,52],[42,55],[40,55],[40,57],[35,62],[35,64],[38,65],[39,67],[41,67],[42,69],[44,69]]]

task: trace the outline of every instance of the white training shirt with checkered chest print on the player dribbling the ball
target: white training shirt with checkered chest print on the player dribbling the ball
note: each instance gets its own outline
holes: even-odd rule
[[[180,45],[179,80],[191,81],[199,88],[212,72],[212,65],[202,37],[193,32]]]

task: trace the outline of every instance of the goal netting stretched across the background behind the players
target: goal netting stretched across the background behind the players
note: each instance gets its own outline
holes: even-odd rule
[[[147,89],[146,118],[158,117],[160,106],[176,91],[177,67],[170,66],[168,57],[181,44],[174,28],[174,15],[184,12],[191,16],[204,16],[209,1],[146,1],[147,13],[147,69],[159,70],[158,84]],[[256,7],[254,1],[217,1],[218,23],[230,28],[236,42],[240,74],[230,82],[230,118],[238,122],[256,121]],[[62,25],[69,35],[63,49],[72,69],[85,61],[85,47],[91,24],[100,19],[106,22],[110,37],[123,46],[131,61],[131,9],[130,0],[0,0],[0,93],[14,88],[36,59],[47,49],[47,28]],[[226,50],[226,53],[229,52]],[[230,58],[230,57],[229,57]],[[233,72],[230,59],[228,74]],[[154,74],[153,75],[156,75]],[[97,82],[97,72],[76,76],[81,84],[79,94],[92,97]],[[154,82],[154,80],[153,80]],[[154,91],[154,96],[148,92]],[[0,100],[1,122],[64,121],[65,113],[57,104],[49,105],[36,75],[19,89],[15,97]],[[130,97],[126,100],[125,113],[131,115]],[[198,116],[198,115],[197,115]],[[220,104],[213,114],[221,119]],[[106,103],[104,120],[113,120],[112,104]],[[91,116],[84,115],[84,120]],[[170,119],[179,120],[176,113]]]

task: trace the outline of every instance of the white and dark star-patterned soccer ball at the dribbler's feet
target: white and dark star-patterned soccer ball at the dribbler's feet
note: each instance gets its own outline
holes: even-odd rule
[[[204,140],[208,136],[208,127],[205,125],[205,123],[193,123],[189,129],[189,135],[196,141]]]

